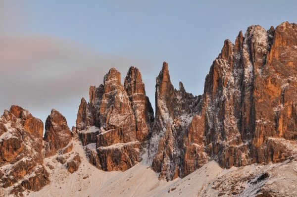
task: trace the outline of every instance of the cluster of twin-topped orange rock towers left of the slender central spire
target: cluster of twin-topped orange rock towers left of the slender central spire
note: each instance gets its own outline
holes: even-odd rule
[[[89,103],[81,100],[76,130],[90,162],[105,171],[124,171],[141,161],[153,111],[138,69],[130,68],[123,86],[120,73],[111,68],[89,95]]]

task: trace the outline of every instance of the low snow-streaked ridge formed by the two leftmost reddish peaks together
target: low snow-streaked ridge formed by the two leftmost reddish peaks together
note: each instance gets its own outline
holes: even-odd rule
[[[45,157],[71,151],[71,133],[66,119],[52,109],[46,123],[20,106],[12,105],[0,117],[0,187],[21,196],[49,184]],[[70,134],[70,136],[69,136]],[[67,146],[68,145],[68,146]]]

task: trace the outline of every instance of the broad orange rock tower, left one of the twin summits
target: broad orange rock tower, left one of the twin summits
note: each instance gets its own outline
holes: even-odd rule
[[[99,113],[100,126],[104,131],[115,133],[115,135],[110,134],[111,136],[121,133],[121,136],[117,135],[121,139],[115,139],[114,143],[126,143],[137,140],[135,116],[130,100],[121,84],[120,73],[114,68],[111,68],[104,77],[104,94]],[[101,134],[103,139],[105,139],[103,133]]]

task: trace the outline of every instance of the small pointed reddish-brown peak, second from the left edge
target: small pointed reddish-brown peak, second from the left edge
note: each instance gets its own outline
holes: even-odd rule
[[[46,120],[45,155],[55,155],[57,150],[65,148],[72,139],[66,118],[57,110],[52,109]]]

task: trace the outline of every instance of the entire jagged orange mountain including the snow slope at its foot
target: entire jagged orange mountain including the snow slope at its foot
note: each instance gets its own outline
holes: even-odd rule
[[[111,68],[76,126],[12,105],[0,117],[2,196],[296,196],[297,24],[224,42],[203,95],[163,62],[155,114],[140,71]],[[31,191],[31,192],[30,192]]]

